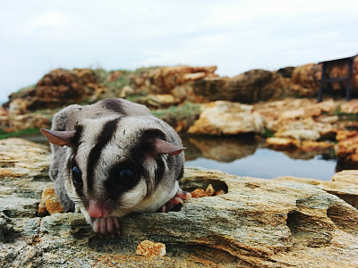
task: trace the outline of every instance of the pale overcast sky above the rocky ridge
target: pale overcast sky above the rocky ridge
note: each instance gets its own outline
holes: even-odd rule
[[[0,103],[62,67],[234,76],[358,53],[358,1],[2,0]]]

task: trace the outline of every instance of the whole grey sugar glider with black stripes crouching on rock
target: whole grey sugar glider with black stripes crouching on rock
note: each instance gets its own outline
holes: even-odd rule
[[[125,214],[168,212],[190,197],[178,184],[182,141],[144,105],[120,98],[70,105],[41,133],[64,210],[81,211],[95,232],[117,233]]]

